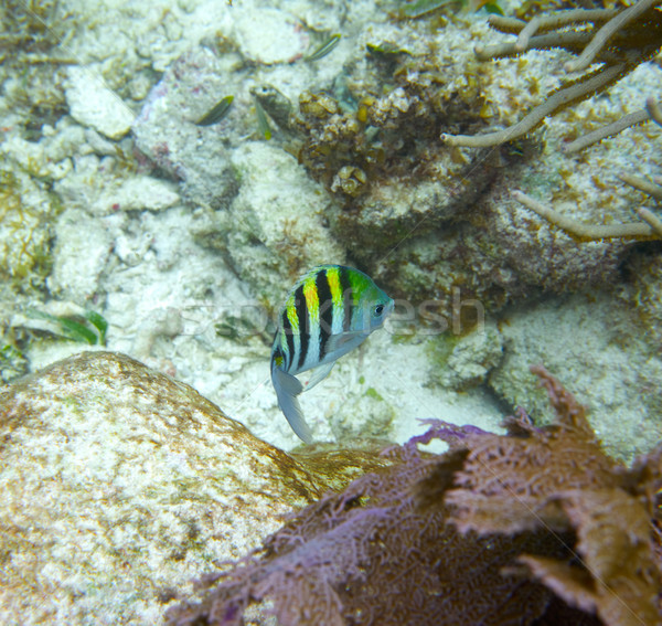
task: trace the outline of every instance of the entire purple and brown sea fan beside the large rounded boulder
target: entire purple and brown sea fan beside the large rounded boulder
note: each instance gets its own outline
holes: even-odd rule
[[[434,422],[391,467],[307,507],[168,620],[243,624],[661,624],[662,447],[626,468],[543,368],[557,422],[495,435]],[[440,455],[416,444],[440,438]],[[255,615],[255,613],[253,614]]]

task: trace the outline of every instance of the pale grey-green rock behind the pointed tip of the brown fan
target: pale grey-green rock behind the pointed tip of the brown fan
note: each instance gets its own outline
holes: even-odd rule
[[[509,310],[499,325],[503,359],[488,384],[509,405],[524,407],[537,425],[549,423],[554,413],[528,369],[544,363],[583,399],[608,454],[631,461],[650,452],[660,437],[662,409],[655,382],[662,360],[648,319],[658,279],[642,274],[628,286],[634,293],[628,301],[587,294]]]

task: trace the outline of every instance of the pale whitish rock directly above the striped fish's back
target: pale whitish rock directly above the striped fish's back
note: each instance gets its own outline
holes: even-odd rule
[[[225,254],[260,301],[280,306],[303,272],[344,262],[324,225],[327,199],[293,157],[266,142],[246,142],[231,162],[242,187],[227,211],[196,226],[196,240]]]

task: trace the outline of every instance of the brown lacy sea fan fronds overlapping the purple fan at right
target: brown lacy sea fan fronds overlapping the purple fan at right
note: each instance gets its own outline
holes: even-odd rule
[[[435,487],[437,470],[424,494],[426,484],[441,491],[442,507],[451,507],[449,521],[463,532],[543,531],[566,543],[564,559],[523,554],[517,562],[568,604],[597,613],[602,624],[660,624],[659,535],[651,518],[659,511],[662,448],[630,470],[609,459],[584,407],[544,368],[532,370],[547,388],[556,424],[538,429],[511,418],[509,437],[440,433],[467,459],[451,488],[446,479],[441,490]],[[429,494],[425,498],[430,503]]]

